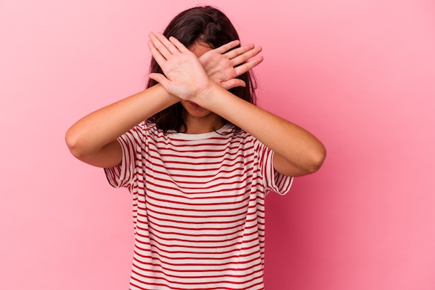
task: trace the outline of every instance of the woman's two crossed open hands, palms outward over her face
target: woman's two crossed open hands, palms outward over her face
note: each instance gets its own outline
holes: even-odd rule
[[[239,45],[239,41],[229,42],[217,49],[211,49],[202,56],[197,56],[174,37],[165,38],[161,33],[149,33],[148,47],[164,74],[151,73],[154,79],[180,99],[195,102],[202,106],[207,102],[213,85],[226,90],[237,86],[246,86],[245,82],[236,79],[252,67],[263,61],[263,57],[249,58],[260,53],[261,47]]]

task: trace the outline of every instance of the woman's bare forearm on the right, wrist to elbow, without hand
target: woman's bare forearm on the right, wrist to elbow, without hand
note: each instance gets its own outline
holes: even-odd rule
[[[318,170],[325,159],[325,147],[311,133],[245,102],[227,90],[213,86],[208,95],[202,99],[202,104],[199,105],[252,134],[275,154],[285,159],[288,166],[287,168],[281,166],[279,170],[281,173],[309,174]]]

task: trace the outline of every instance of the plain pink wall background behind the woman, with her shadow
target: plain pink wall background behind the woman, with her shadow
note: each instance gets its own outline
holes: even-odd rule
[[[144,88],[149,31],[197,1],[0,1],[0,289],[127,289],[131,198],[64,142]],[[263,46],[260,106],[323,168],[267,199],[267,289],[435,289],[432,0],[202,1]]]

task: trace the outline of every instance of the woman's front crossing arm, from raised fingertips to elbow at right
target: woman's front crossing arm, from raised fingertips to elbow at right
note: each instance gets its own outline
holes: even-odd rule
[[[207,76],[204,64],[177,39],[150,33],[149,50],[165,73],[150,74],[151,79],[181,99],[229,120],[270,147],[275,153],[275,170],[285,175],[305,175],[320,168],[326,152],[317,138],[217,85]]]

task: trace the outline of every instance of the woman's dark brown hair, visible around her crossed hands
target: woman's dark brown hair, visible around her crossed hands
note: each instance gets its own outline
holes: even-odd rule
[[[181,12],[174,17],[163,32],[166,38],[173,36],[185,47],[192,47],[197,42],[204,42],[212,49],[220,47],[233,40],[238,40],[238,33],[231,21],[222,11],[211,6],[197,6]],[[240,47],[240,45],[238,46]],[[161,67],[154,58],[151,58],[149,72],[163,74]],[[256,103],[256,81],[252,72],[245,72],[238,76],[238,79],[245,81],[246,87],[231,88],[229,91],[252,104]],[[147,88],[157,84],[154,79],[149,79]],[[181,127],[187,130],[183,120],[183,106],[180,102],[163,111],[156,113],[148,119],[156,123],[159,129],[179,131]]]

